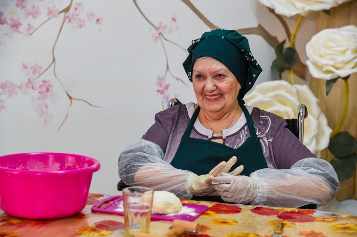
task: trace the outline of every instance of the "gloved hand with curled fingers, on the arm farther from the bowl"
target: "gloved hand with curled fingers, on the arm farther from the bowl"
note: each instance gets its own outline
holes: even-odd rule
[[[212,184],[226,202],[246,204],[254,201],[258,195],[258,182],[247,176],[222,173],[212,180]]]

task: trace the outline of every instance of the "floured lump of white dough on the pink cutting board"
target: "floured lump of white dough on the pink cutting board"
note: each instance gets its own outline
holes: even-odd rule
[[[154,191],[153,214],[171,214],[179,212],[182,203],[179,197],[167,191]]]

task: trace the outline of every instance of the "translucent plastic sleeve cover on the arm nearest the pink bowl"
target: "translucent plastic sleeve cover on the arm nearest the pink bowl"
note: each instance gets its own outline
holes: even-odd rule
[[[190,185],[198,175],[173,167],[163,160],[162,149],[154,142],[140,139],[124,149],[118,159],[119,178],[129,186],[146,186],[191,199]]]

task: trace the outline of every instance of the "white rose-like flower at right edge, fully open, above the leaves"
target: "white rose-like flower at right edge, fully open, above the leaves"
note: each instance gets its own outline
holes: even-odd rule
[[[344,78],[357,72],[357,27],[325,29],[306,44],[310,74],[319,79]]]

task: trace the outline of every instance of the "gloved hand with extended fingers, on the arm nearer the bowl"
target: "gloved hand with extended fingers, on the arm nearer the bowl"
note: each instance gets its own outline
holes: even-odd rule
[[[214,167],[207,175],[193,178],[190,190],[195,196],[217,196],[216,190],[212,185],[212,180],[221,173],[227,173],[236,163],[237,157],[230,158],[227,162],[222,161]],[[229,174],[238,175],[242,172],[243,166],[237,167]]]

